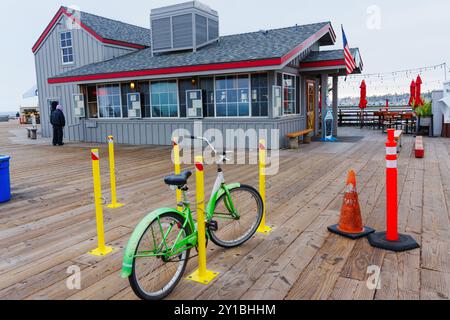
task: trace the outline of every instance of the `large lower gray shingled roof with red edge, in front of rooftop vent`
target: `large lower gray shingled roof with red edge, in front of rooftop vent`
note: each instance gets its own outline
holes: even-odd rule
[[[331,23],[322,22],[225,36],[221,37],[218,42],[205,46],[197,52],[172,52],[152,56],[152,51],[149,48],[109,61],[70,70],[53,78],[53,80],[49,79],[49,82],[75,82],[75,78],[79,77],[83,80],[116,78],[112,76],[108,77],[108,75],[122,75],[122,73],[127,73],[131,76],[133,71],[161,70],[224,63],[242,62],[239,65],[245,67],[246,65],[250,66],[250,62],[252,61],[264,61],[275,65],[284,61],[283,58],[291,58],[301,50],[306,50],[314,42],[319,41],[330,32],[334,36]],[[143,72],[141,75],[148,74]],[[106,77],[101,77],[100,75],[106,75]],[[95,77],[89,78],[90,76]],[[125,75],[123,74],[123,76]],[[63,78],[67,81],[57,80]]]

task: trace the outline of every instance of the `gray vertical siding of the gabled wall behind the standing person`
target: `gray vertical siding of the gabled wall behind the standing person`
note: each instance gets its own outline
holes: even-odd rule
[[[66,19],[63,17],[61,19]],[[49,85],[49,77],[56,76],[73,68],[78,68],[86,64],[111,59],[131,50],[128,48],[118,48],[104,46],[84,29],[72,30],[74,63],[63,65],[60,49],[60,33],[67,31],[65,23],[57,24],[47,39],[35,54],[36,78],[39,93],[39,105],[41,107],[42,135],[51,137],[52,131],[49,119],[48,99],[57,98],[64,108],[67,126],[65,137],[69,140],[82,140],[84,132],[78,119],[73,117],[72,97],[79,92],[77,85]]]

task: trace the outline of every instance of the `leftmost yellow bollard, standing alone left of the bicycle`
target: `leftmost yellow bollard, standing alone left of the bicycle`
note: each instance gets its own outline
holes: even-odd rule
[[[100,181],[100,156],[98,149],[91,150],[92,174],[94,177],[95,213],[97,218],[98,248],[89,254],[102,257],[113,252],[113,248],[105,245],[105,227],[103,225],[102,185]]]

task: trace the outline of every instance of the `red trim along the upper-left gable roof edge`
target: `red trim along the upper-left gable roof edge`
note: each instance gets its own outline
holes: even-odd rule
[[[129,43],[129,42],[123,42],[123,41],[117,41],[117,40],[111,40],[111,39],[102,38],[94,30],[92,30],[91,28],[86,26],[84,23],[82,23],[79,19],[77,19],[75,16],[70,14],[66,10],[66,8],[61,7],[58,10],[58,12],[56,13],[56,15],[53,17],[53,19],[50,22],[50,24],[47,26],[47,28],[45,28],[44,32],[39,37],[39,39],[36,42],[36,44],[33,46],[33,48],[32,48],[33,53],[36,53],[36,51],[39,49],[41,44],[47,38],[48,34],[53,29],[53,27],[55,26],[55,24],[58,22],[58,20],[61,18],[62,15],[66,15],[68,18],[72,19],[75,23],[77,23],[80,27],[82,27],[90,35],[92,35],[94,38],[96,38],[98,41],[100,41],[102,43],[116,45],[116,46],[121,46],[121,47],[129,47],[129,48],[134,48],[134,49],[145,49],[145,48],[147,48],[147,46],[143,46],[143,45],[140,45],[140,44],[135,44],[135,43]]]

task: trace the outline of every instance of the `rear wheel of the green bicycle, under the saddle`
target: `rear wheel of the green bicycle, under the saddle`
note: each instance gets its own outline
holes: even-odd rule
[[[155,219],[143,234],[135,253],[133,273],[129,278],[131,288],[139,298],[164,299],[181,280],[190,250],[170,258],[165,254],[175,241],[179,242],[191,234],[189,225],[184,229],[183,225],[182,217],[166,213]]]

